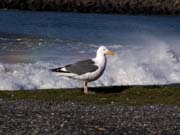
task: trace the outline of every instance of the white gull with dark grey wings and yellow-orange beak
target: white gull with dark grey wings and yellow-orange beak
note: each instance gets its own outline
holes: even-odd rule
[[[88,82],[97,80],[104,73],[107,63],[106,55],[114,54],[115,52],[110,51],[105,46],[100,46],[95,58],[50,69],[50,71],[56,72],[57,75],[84,81],[84,94],[89,94]]]

